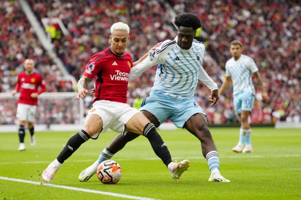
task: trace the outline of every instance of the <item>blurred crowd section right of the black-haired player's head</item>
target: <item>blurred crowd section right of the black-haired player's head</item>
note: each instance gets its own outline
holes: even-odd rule
[[[264,105],[257,98],[252,122],[300,122],[301,7],[297,1],[188,2],[174,0],[170,4],[176,13],[199,16],[207,34],[203,38],[207,52],[220,67],[224,68],[230,58],[229,43],[235,39],[244,44],[244,53],[259,67],[271,102]],[[229,107],[229,95],[221,98],[219,105]],[[225,112],[227,109],[222,112],[224,116]]]

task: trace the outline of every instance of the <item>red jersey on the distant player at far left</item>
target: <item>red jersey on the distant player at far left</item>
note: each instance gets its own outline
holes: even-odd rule
[[[39,86],[41,90],[38,92]],[[15,89],[17,91],[20,89],[19,103],[38,105],[38,98],[32,98],[30,95],[35,92],[41,94],[46,90],[46,86],[40,74],[33,73],[26,75],[25,72],[22,72],[18,75],[18,82]]]

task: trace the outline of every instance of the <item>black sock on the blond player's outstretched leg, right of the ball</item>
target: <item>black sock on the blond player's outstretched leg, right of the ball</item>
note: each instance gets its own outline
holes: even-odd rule
[[[146,124],[143,130],[143,135],[149,140],[154,152],[159,158],[161,158],[166,166],[172,162],[169,150],[159,133],[156,131],[153,123]]]

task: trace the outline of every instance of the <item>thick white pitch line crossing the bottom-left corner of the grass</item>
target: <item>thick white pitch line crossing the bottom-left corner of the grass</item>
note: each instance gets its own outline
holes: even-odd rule
[[[50,183],[22,180],[22,179],[9,178],[9,177],[4,177],[4,176],[0,176],[0,179],[17,181],[17,182],[25,182],[25,183],[31,183],[31,184],[36,184],[36,185],[45,185],[45,186],[49,186],[49,187],[58,187],[58,188],[63,188],[63,189],[75,190],[75,191],[84,191],[84,192],[89,192],[89,193],[103,194],[103,195],[116,196],[116,197],[122,197],[122,198],[137,199],[137,200],[160,200],[160,199],[155,199],[155,198],[132,196],[132,195],[127,195],[127,194],[113,193],[113,192],[107,192],[107,191],[98,191],[98,190],[84,189],[84,188],[78,188],[78,187],[70,187],[70,186],[65,186],[65,185],[55,185],[55,184],[50,184]]]

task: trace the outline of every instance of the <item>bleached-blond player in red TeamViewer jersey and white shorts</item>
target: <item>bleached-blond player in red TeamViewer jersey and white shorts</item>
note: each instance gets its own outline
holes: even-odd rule
[[[119,22],[111,27],[111,46],[96,53],[88,62],[83,76],[77,84],[78,93],[74,99],[83,99],[88,90],[88,81],[95,77],[95,98],[88,111],[83,128],[73,135],[66,146],[49,164],[42,174],[45,182],[50,182],[56,171],[62,166],[82,143],[88,139],[97,139],[100,133],[109,128],[124,135],[128,131],[145,136],[152,145],[156,155],[169,169],[173,179],[177,179],[188,168],[189,161],[172,162],[170,153],[161,136],[139,110],[127,104],[129,74],[134,66],[132,57],[125,52],[130,39],[130,28]],[[147,55],[145,55],[147,57]]]

